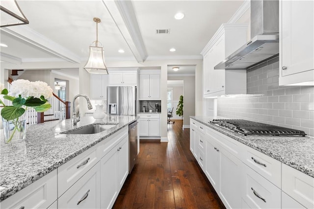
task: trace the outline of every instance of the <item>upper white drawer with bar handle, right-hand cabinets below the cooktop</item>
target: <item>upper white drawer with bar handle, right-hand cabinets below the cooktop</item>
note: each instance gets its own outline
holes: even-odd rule
[[[243,145],[242,162],[281,188],[281,162]]]

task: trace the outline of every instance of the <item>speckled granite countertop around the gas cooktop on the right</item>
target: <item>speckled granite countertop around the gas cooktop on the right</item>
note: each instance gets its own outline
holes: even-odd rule
[[[243,136],[208,123],[214,119],[213,117],[190,116],[190,118],[314,177],[314,139],[312,137]]]

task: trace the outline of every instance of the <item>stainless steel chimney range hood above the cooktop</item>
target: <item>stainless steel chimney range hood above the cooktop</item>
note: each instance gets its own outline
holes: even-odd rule
[[[251,40],[214,69],[247,69],[278,53],[279,1],[251,0]]]

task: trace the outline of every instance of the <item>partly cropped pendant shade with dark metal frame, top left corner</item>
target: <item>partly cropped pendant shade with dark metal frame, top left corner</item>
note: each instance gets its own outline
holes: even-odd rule
[[[16,0],[1,0],[1,27],[28,24]]]

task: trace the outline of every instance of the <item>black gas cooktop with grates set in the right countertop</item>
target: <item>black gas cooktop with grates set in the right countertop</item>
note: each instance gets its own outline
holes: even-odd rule
[[[214,119],[210,121],[217,126],[241,133],[244,136],[305,136],[304,131],[273,126],[253,121],[239,119]]]

